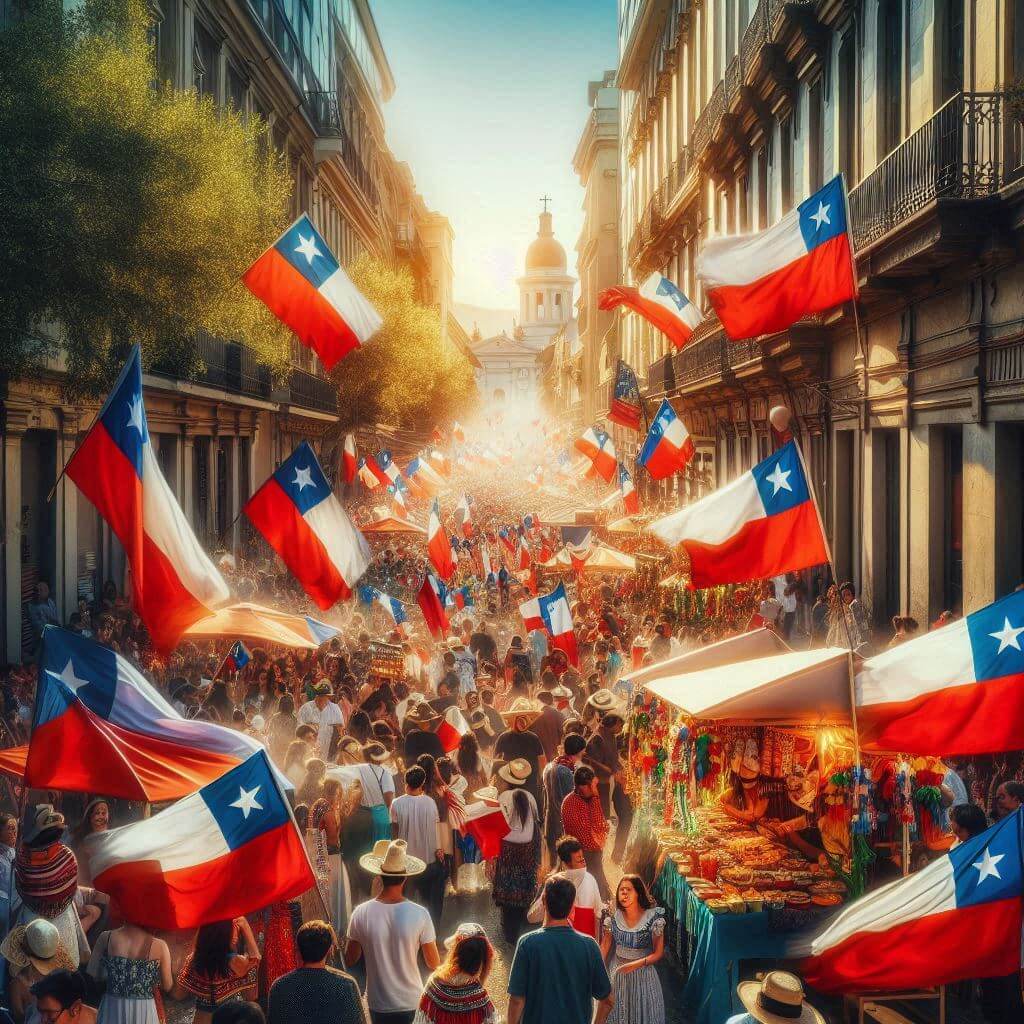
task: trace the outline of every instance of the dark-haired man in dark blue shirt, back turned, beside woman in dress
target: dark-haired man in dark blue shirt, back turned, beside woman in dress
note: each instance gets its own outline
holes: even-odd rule
[[[508,1024],[604,1024],[611,982],[597,943],[569,924],[575,886],[549,879],[543,900],[544,927],[520,937],[512,959]]]

